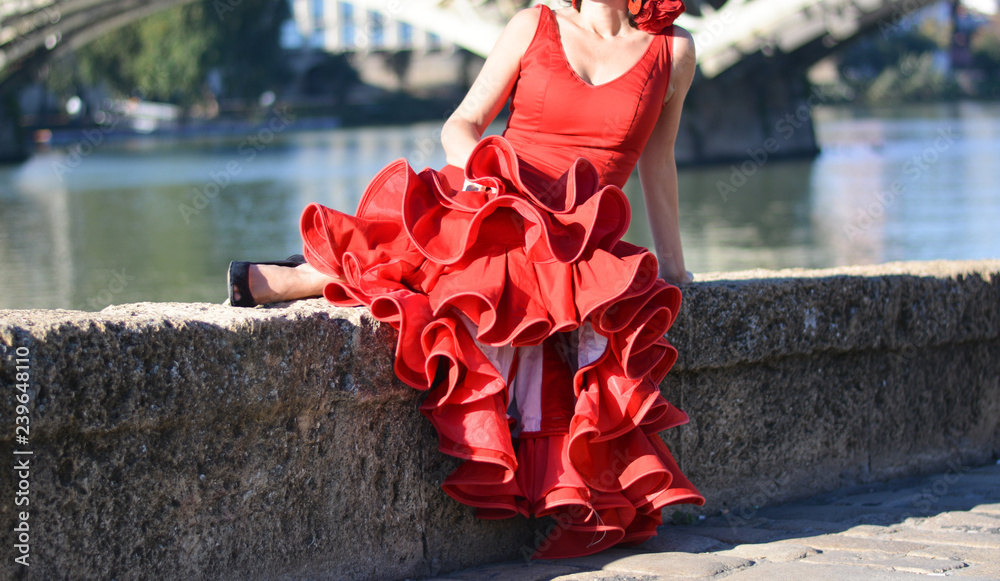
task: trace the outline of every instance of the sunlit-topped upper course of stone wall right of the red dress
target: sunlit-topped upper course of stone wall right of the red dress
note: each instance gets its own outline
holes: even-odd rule
[[[680,352],[675,371],[1000,337],[1000,260],[752,270],[699,280],[684,289],[670,330]]]

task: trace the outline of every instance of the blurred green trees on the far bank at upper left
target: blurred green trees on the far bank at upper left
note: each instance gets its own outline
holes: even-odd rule
[[[58,63],[49,86],[106,83],[120,96],[191,105],[217,70],[228,96],[255,99],[283,80],[280,27],[287,2],[201,0],[124,26]]]

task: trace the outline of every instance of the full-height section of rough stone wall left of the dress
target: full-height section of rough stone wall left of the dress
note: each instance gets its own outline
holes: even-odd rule
[[[4,313],[0,384],[31,350],[33,578],[392,579],[517,556],[526,521],[441,492],[455,463],[393,340],[321,301]]]

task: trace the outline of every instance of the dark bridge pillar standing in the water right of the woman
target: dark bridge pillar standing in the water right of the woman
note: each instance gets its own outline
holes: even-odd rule
[[[824,100],[810,88],[805,71],[754,67],[751,74],[696,79],[681,117],[677,161],[749,161],[749,168],[772,159],[813,157],[819,149],[812,112]]]

